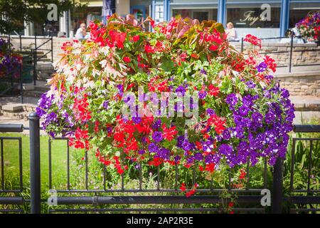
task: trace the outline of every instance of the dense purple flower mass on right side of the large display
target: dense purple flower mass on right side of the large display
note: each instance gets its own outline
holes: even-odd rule
[[[281,99],[267,103],[265,114],[260,113],[258,105],[255,105],[258,95],[245,95],[239,108],[235,108],[235,95],[228,95],[226,99],[233,108],[235,126],[224,130],[216,139],[222,143],[218,147],[218,157],[225,157],[230,167],[245,164],[248,158],[255,165],[259,157],[268,157],[269,164],[274,165],[277,157],[285,156],[289,142],[287,133],[292,130],[294,119],[294,105],[289,100],[288,90],[280,89],[278,83],[265,90],[266,94],[270,99],[281,95]],[[233,138],[232,143],[228,142],[230,138]],[[203,150],[209,147],[210,143],[203,143]]]

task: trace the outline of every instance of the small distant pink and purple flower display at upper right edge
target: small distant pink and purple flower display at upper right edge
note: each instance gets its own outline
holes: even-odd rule
[[[301,36],[309,41],[318,41],[320,38],[320,12],[314,11],[296,24]]]

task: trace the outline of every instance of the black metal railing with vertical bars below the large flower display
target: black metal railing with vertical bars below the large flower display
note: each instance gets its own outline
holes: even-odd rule
[[[30,128],[24,128],[23,125],[4,125],[0,124],[0,132],[11,132],[11,133],[22,133],[23,130],[29,130],[30,135],[30,199],[25,199],[24,197],[19,197],[17,195],[10,195],[7,197],[0,197],[0,204],[31,204],[31,213],[41,213],[41,204],[47,201],[52,200],[51,197],[48,199],[41,199],[41,160],[40,160],[40,124],[39,118],[35,113],[31,113],[29,115],[29,125]],[[295,125],[294,133],[320,133],[320,125]],[[20,185],[16,190],[6,190],[5,187],[5,179],[4,179],[4,141],[5,140],[18,140],[19,143],[19,175],[20,175]],[[55,187],[53,185],[53,141],[54,140],[64,140],[66,142],[66,187]],[[296,138],[295,136],[292,138],[292,168],[290,170],[290,192],[294,193],[296,190],[293,189],[292,183],[294,182],[294,153],[295,153],[295,142],[297,140],[310,140],[311,146],[309,151],[309,161],[311,161],[311,155],[313,151],[312,142],[319,140],[319,138]],[[22,145],[21,145],[21,137],[6,137],[1,136],[1,193],[21,193],[23,191],[23,175],[22,175]],[[59,149],[60,150],[60,149]],[[73,163],[70,162],[70,148],[68,145],[67,138],[55,138],[53,140],[48,140],[48,190],[54,190],[55,195],[55,204],[57,207],[50,207],[48,209],[49,213],[55,212],[220,212],[221,208],[219,207],[208,207],[203,208],[196,206],[198,204],[220,204],[221,197],[219,193],[221,192],[236,192],[237,194],[237,202],[239,204],[248,205],[247,207],[239,207],[233,209],[235,212],[255,212],[255,213],[282,213],[284,212],[284,208],[282,204],[284,202],[289,202],[289,204],[320,204],[320,197],[314,195],[314,193],[319,192],[319,190],[312,190],[310,186],[310,180],[308,180],[308,187],[306,190],[298,190],[297,192],[306,192],[306,196],[295,196],[286,195],[284,196],[283,190],[283,173],[284,173],[284,161],[281,158],[277,159],[276,164],[270,170],[267,168],[267,160],[264,160],[264,165],[262,167],[262,179],[263,179],[263,188],[251,188],[250,187],[250,165],[247,164],[246,172],[247,172],[247,185],[243,189],[234,188],[231,183],[232,176],[229,172],[228,177],[228,187],[227,190],[222,188],[216,188],[213,186],[211,182],[210,187],[198,189],[196,192],[197,195],[192,197],[186,197],[184,195],[177,195],[178,192],[178,166],[173,167],[173,171],[171,175],[174,176],[174,182],[172,182],[173,188],[162,187],[161,185],[161,175],[164,175],[164,172],[161,171],[161,167],[156,167],[156,186],[155,188],[144,187],[144,179],[143,179],[143,164],[139,164],[137,168],[137,180],[139,184],[137,188],[127,187],[127,183],[124,180],[124,174],[120,177],[119,187],[110,186],[109,181],[112,176],[108,175],[107,167],[103,166],[102,172],[102,185],[98,189],[92,189],[90,187],[90,156],[88,152],[85,151],[84,155],[84,169],[85,175],[83,177],[84,188],[78,189],[71,186],[70,183],[70,169],[73,167]],[[311,162],[309,162],[309,170],[311,170]],[[196,170],[193,170],[192,182],[193,184],[198,181],[198,177],[196,175]],[[272,185],[267,182],[267,172],[272,174]],[[62,172],[62,170],[58,170],[58,172]],[[311,171],[308,172],[309,178],[311,176]],[[319,175],[319,174],[318,174]],[[262,207],[260,201],[262,199],[261,190],[267,189],[270,187],[272,189],[272,207],[271,211],[267,207]],[[149,192],[149,195],[136,195],[137,193]],[[159,195],[154,195],[159,193]],[[163,195],[165,193],[165,195]],[[120,194],[120,195],[119,195]],[[228,203],[229,199],[225,199]],[[109,207],[110,205],[118,204],[123,207],[114,208]],[[172,208],[172,207],[147,207],[147,208],[131,208],[124,207],[126,204],[161,204],[172,205],[172,204],[190,204],[192,207],[183,207],[183,208]],[[85,206],[85,208],[78,208],[78,206]],[[76,208],[73,206],[77,206]],[[91,206],[91,207],[89,207]],[[312,212],[317,211],[319,209],[316,208],[302,208],[299,209],[290,209],[290,212]],[[0,211],[1,212],[1,211]],[[12,211],[12,209],[4,209],[2,212],[21,212],[21,210]]]

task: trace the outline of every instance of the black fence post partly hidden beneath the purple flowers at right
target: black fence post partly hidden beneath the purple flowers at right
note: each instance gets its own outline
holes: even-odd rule
[[[272,214],[282,213],[282,158],[277,157],[273,170]]]

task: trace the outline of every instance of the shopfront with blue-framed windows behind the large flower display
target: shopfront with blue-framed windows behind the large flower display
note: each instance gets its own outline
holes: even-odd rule
[[[79,0],[87,3],[86,13],[65,12],[56,25],[71,36],[81,23],[102,20],[100,0]],[[233,22],[238,37],[251,33],[260,38],[284,36],[311,11],[320,11],[320,0],[114,0],[114,11],[120,15],[133,14],[142,20],[151,16],[156,23],[168,21],[180,14],[193,19]],[[30,28],[26,28],[26,30]],[[27,31],[30,35],[32,31]],[[27,34],[27,35],[28,35]]]

